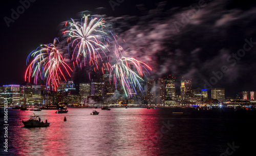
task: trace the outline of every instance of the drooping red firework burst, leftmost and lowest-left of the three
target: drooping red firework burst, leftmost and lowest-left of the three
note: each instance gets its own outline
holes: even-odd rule
[[[54,42],[56,42],[56,40]],[[28,65],[25,81],[28,79],[30,82],[30,77],[34,77],[34,83],[36,84],[38,77],[41,80],[46,79],[46,84],[50,90],[56,91],[60,80],[67,81],[65,73],[71,77],[70,71],[72,72],[72,69],[65,62],[65,59],[63,59],[54,44],[45,44],[38,47],[36,50],[32,51],[29,56],[30,55],[34,57],[34,59]]]

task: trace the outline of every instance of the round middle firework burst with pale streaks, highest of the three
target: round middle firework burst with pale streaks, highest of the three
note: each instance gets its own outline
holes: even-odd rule
[[[78,64],[80,57],[83,56],[83,65],[86,65],[86,61],[90,65],[97,65],[98,59],[101,59],[100,52],[105,54],[104,50],[107,49],[109,43],[109,37],[106,37],[107,33],[103,31],[103,18],[90,20],[89,16],[84,16],[84,20],[81,22],[76,22],[72,18],[71,20],[73,23],[70,23],[70,30],[63,32],[63,34],[69,33],[67,42],[72,41],[74,48],[72,60]]]

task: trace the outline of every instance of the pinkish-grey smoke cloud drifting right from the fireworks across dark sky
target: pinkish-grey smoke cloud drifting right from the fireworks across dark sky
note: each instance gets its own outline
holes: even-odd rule
[[[232,53],[243,49],[245,39],[256,41],[255,5],[235,4],[211,1],[203,7],[192,4],[164,10],[162,3],[140,17],[123,16],[113,18],[112,22],[120,26],[116,27],[118,42],[127,54],[152,66],[152,78],[175,74],[178,78],[192,78],[194,87],[203,88],[204,80],[209,81],[214,76],[212,72],[221,71],[225,65],[229,72],[212,87],[225,87],[228,95],[234,95],[242,88],[256,87],[251,78],[256,65],[255,47],[235,65],[227,61]],[[191,8],[195,8],[194,14]],[[180,24],[178,29],[175,23]]]

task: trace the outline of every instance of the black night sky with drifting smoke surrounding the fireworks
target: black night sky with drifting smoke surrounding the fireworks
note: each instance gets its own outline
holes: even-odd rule
[[[61,37],[63,22],[80,19],[81,12],[88,10],[105,14],[106,23],[112,24],[129,56],[153,68],[150,78],[174,74],[177,87],[181,77],[191,78],[193,88],[210,88],[205,83],[212,82],[211,87],[225,87],[226,97],[256,91],[256,2],[113,2],[121,2],[115,10],[108,0],[37,0],[8,27],[5,17],[11,18],[12,9],[22,4],[6,1],[1,5],[0,85],[25,85],[28,54],[40,44]],[[72,79],[76,83],[87,81],[87,70],[75,70]]]

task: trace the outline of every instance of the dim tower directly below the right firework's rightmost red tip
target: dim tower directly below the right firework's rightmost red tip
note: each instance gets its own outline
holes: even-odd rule
[[[148,104],[155,104],[156,86],[154,79],[146,81],[146,101]]]

